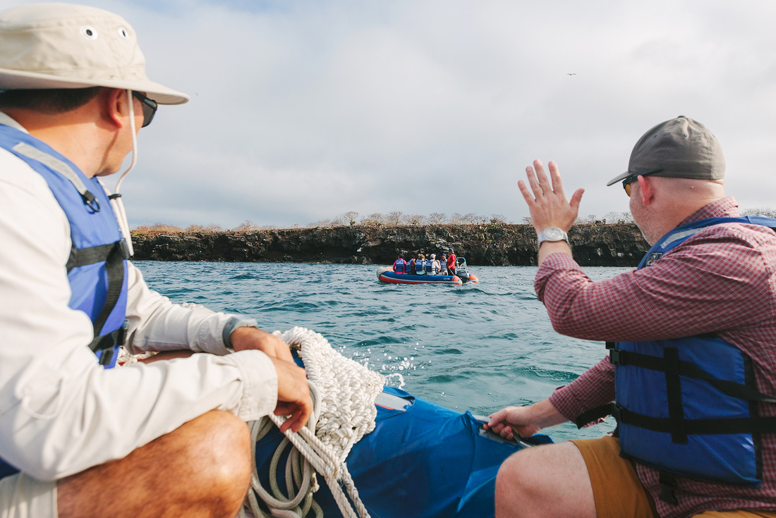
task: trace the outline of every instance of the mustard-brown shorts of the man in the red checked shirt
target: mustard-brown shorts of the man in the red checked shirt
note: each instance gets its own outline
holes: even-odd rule
[[[641,485],[633,461],[620,457],[620,443],[614,437],[572,440],[579,448],[593,486],[595,512],[598,518],[657,518],[652,497]],[[776,511],[706,511],[704,518],[776,518]]]

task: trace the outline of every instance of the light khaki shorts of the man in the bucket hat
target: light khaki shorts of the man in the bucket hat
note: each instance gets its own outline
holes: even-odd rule
[[[0,518],[57,518],[57,482],[23,473],[0,479]]]

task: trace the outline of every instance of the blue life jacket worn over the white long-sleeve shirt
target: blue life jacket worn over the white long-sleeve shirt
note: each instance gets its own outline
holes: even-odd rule
[[[92,320],[94,340],[88,347],[104,368],[116,365],[126,340],[126,260],[123,239],[108,196],[97,178],[46,143],[19,129],[0,124],[0,147],[8,150],[46,181],[68,216],[72,246],[66,266],[71,287],[68,306]],[[0,459],[0,478],[17,472]]]

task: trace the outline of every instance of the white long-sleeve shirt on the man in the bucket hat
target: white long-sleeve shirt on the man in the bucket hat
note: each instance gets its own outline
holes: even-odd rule
[[[0,124],[24,130],[0,112]],[[230,316],[151,291],[129,265],[130,351],[210,354],[104,369],[92,323],[70,309],[70,225],[46,181],[0,149],[0,458],[55,480],[123,458],[211,409],[255,420],[275,409],[260,351],[227,355]]]

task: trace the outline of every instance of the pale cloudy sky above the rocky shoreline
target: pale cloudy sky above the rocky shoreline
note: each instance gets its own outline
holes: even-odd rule
[[[534,158],[603,216],[628,208],[605,184],[633,144],[678,115],[719,138],[743,208],[776,208],[771,0],[81,2],[127,19],[149,77],[192,97],[140,132],[130,226],[520,223]]]

